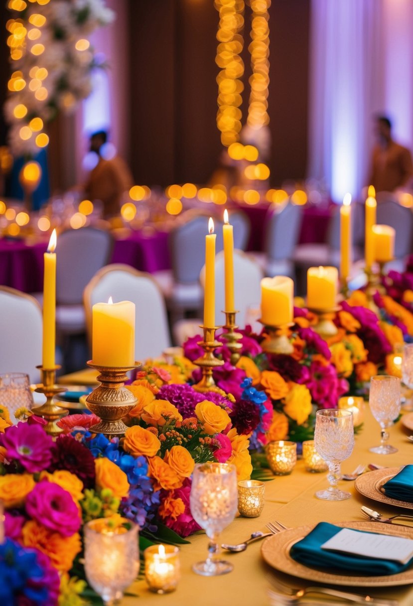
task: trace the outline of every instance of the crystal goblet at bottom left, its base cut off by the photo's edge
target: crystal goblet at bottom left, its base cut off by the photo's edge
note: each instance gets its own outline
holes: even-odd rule
[[[139,572],[139,526],[128,520],[129,530],[102,531],[105,522],[96,519],[84,526],[85,573],[104,604],[111,606],[118,603]]]

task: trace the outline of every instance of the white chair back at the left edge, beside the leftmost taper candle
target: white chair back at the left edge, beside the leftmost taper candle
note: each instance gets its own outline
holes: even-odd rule
[[[14,288],[0,287],[0,374],[26,373],[40,381],[42,312],[36,299]]]

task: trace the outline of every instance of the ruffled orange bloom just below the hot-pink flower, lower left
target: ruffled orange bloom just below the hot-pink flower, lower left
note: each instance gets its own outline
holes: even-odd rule
[[[35,547],[45,553],[51,565],[59,572],[67,572],[73,565],[76,554],[82,549],[79,533],[62,536],[48,530],[35,520],[29,520],[22,528],[23,545]]]

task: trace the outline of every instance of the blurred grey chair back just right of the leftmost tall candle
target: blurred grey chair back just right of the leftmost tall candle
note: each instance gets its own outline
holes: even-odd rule
[[[109,231],[82,227],[63,231],[56,256],[56,301],[59,305],[82,303],[85,286],[104,267],[112,253]]]

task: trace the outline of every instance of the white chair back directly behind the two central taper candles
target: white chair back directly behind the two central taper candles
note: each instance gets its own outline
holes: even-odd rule
[[[234,250],[234,299],[237,313],[236,321],[240,328],[245,327],[248,307],[260,301],[262,269],[259,264],[242,250]],[[200,273],[200,282],[205,287],[205,266]],[[216,324],[225,324],[225,262],[223,252],[215,258],[215,318]]]

